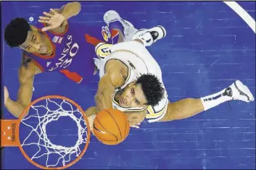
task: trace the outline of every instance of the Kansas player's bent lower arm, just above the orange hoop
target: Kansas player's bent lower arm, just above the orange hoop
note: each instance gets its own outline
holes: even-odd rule
[[[9,98],[8,90],[6,87],[4,88],[4,105],[13,116],[19,117],[25,107],[30,104],[33,94],[34,76],[37,73],[36,64],[32,61],[27,64],[22,63],[19,69],[20,87],[17,93],[17,101]]]

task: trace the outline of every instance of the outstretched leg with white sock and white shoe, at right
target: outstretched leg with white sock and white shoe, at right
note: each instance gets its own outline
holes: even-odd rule
[[[171,121],[177,119],[186,119],[196,114],[214,108],[226,101],[244,101],[252,102],[255,100],[249,88],[240,80],[236,80],[233,84],[220,90],[218,93],[207,95],[202,98],[185,98],[181,101],[168,103],[168,110],[165,116],[160,120]]]

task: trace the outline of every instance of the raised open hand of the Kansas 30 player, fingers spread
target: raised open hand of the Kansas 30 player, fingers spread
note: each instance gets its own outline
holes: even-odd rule
[[[65,22],[66,18],[63,14],[59,14],[58,12],[54,11],[54,9],[50,9],[51,13],[43,12],[45,17],[39,17],[40,20],[38,22],[46,23],[47,26],[42,28],[42,31],[46,30],[52,30],[60,25],[62,25],[63,22]]]

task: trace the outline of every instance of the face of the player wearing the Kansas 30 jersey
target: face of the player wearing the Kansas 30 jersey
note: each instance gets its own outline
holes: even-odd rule
[[[28,31],[27,39],[20,48],[28,53],[47,54],[48,52],[46,43],[44,43],[44,35],[36,29]]]

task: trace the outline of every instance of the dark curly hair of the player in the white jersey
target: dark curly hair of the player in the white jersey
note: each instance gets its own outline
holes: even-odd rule
[[[141,75],[136,81],[136,85],[141,85],[141,88],[146,96],[148,105],[156,106],[165,95],[165,88],[157,78],[152,74]]]

